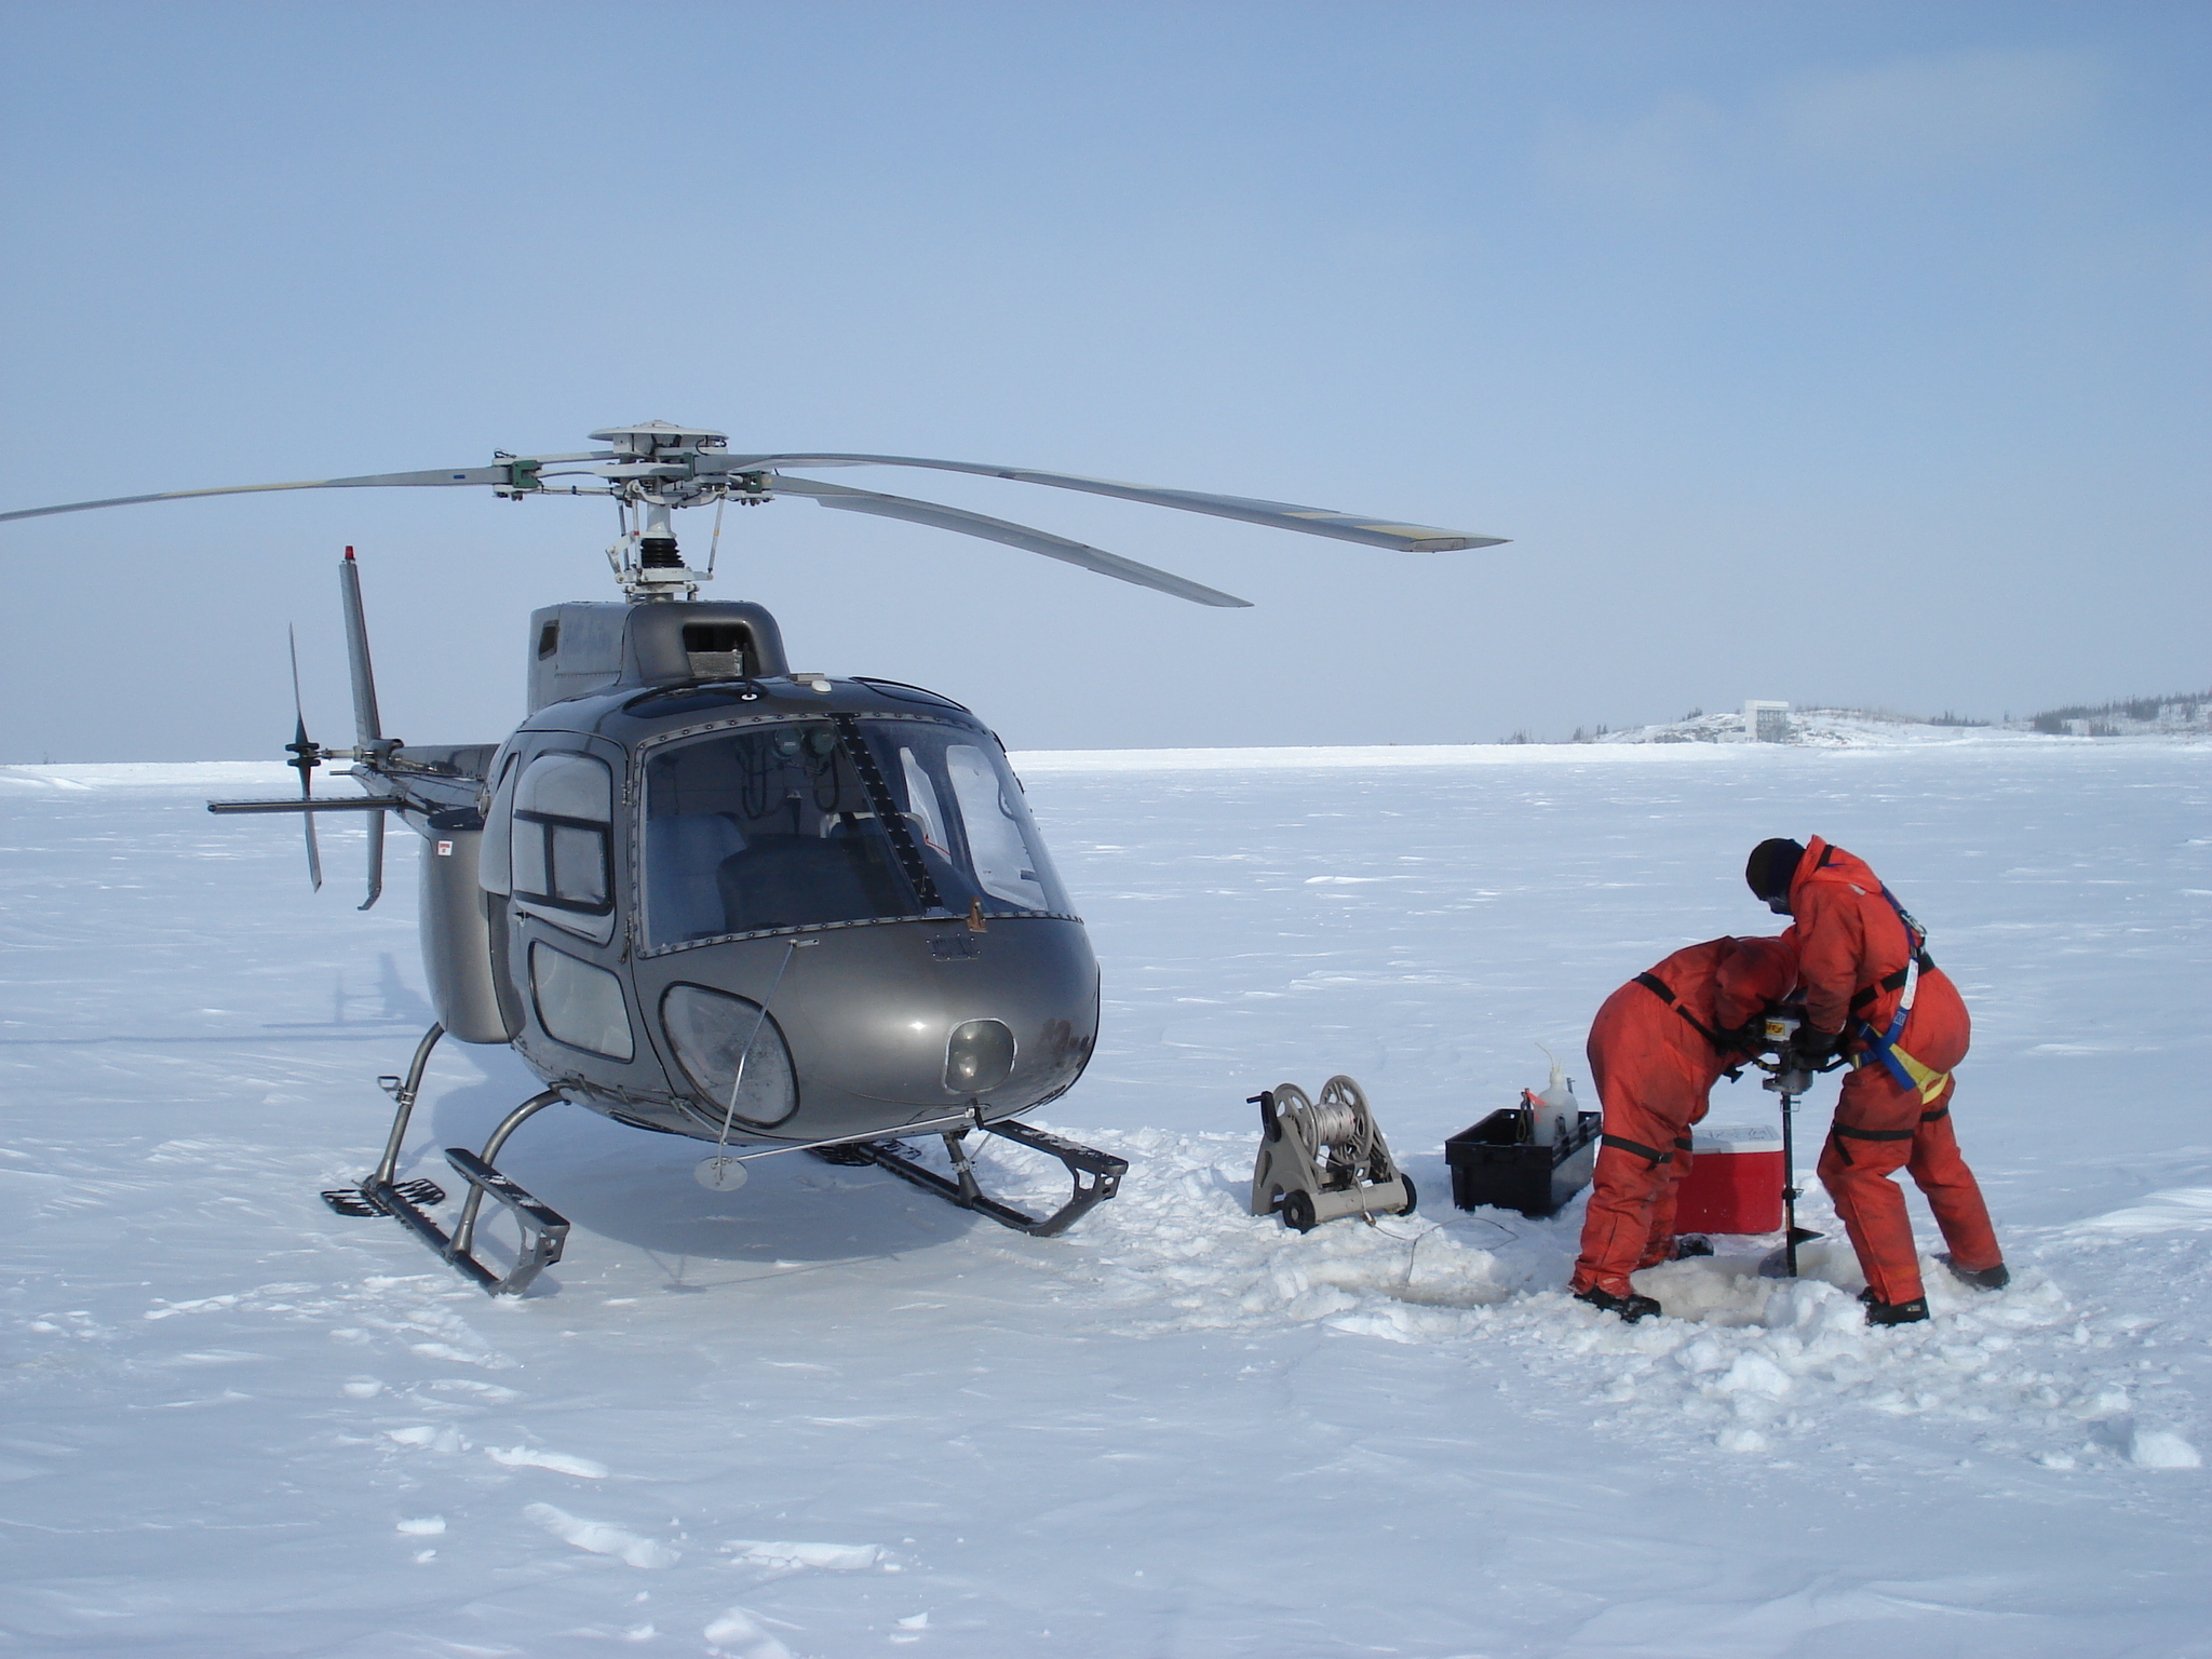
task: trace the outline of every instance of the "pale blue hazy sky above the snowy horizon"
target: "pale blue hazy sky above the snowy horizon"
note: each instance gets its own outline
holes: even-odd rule
[[[2197,4],[15,4],[0,507],[670,418],[1513,538],[838,473],[1259,606],[1223,613],[732,520],[714,597],[1015,748],[2201,688],[2208,49]],[[347,542],[387,728],[495,739],[529,611],[613,597],[611,526],[0,526],[0,761],[274,754],[288,622],[341,741]]]

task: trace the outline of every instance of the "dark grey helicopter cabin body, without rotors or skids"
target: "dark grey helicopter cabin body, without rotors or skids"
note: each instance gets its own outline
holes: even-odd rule
[[[524,723],[434,752],[473,807],[403,814],[451,1037],[732,1146],[995,1121],[1082,1075],[1097,962],[967,708],[794,677],[752,604],[553,606],[531,650]]]

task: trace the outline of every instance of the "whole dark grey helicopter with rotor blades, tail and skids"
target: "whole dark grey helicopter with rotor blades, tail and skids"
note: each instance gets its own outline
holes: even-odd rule
[[[1471,535],[1290,502],[1152,489],[1071,473],[863,453],[732,453],[721,431],[646,420],[595,449],[489,467],[232,484],[0,513],[290,489],[489,487],[507,500],[604,495],[619,602],[531,615],[529,708],[498,743],[405,743],[376,703],[354,549],[338,564],[354,743],[307,737],[292,653],[299,799],[210,801],[217,814],[301,814],[323,883],[316,818],[367,821],[369,909],[385,821],[422,841],[418,929],[436,1020],[405,1073],[385,1075],[392,1128],[376,1168],[323,1192],[349,1217],[392,1217],[491,1294],[522,1294],[562,1259],[568,1221],[498,1168],[513,1133],[571,1102],[619,1124],[710,1141],[712,1190],[748,1164],[812,1152],[874,1164],[1035,1237],[1110,1199],[1128,1164],[1020,1121],[1082,1077],[1097,1042],[1099,969],[1029,814],[1006,750],[967,706],[865,675],[794,672],[759,604],[701,599],[730,504],[796,495],[1042,553],[1206,606],[1245,599],[1082,542],[958,507],[849,489],[787,469],[914,467],[1303,531],[1409,553],[1498,546]],[[588,480],[588,482],[555,482]],[[672,513],[714,507],[708,560],[677,549]],[[345,761],[356,794],[314,794]],[[465,1188],[398,1179],[409,1119],[440,1040],[507,1044],[544,1088],[482,1150],[445,1148]],[[1071,1192],[1029,1214],[982,1190],[971,1135],[1057,1159]],[[949,1175],[907,1137],[938,1135]],[[478,1248],[484,1199],[515,1225],[507,1265]]]

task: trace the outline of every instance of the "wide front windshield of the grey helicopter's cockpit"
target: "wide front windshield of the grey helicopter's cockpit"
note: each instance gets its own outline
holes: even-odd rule
[[[1022,787],[980,732],[776,721],[650,750],[646,949],[905,916],[1066,916]]]

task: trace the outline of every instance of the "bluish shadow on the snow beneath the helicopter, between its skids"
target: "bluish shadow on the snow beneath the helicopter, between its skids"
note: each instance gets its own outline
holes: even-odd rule
[[[498,1121],[538,1093],[538,1079],[513,1053],[480,1048],[467,1057],[476,1082],[451,1086],[431,1077],[425,1084],[398,1170],[400,1177],[427,1175],[456,1201],[462,1183],[442,1148],[480,1150]],[[993,1228],[883,1170],[832,1166],[805,1152],[759,1159],[748,1166],[743,1188],[710,1192],[692,1170],[712,1150],[710,1141],[628,1128],[573,1104],[549,1106],[529,1119],[500,1152],[500,1170],[575,1228],[566,1259],[531,1294],[557,1294],[562,1276],[599,1279],[613,1265],[602,1241],[646,1252],[668,1274],[666,1290],[699,1290],[686,1283],[697,1263],[790,1270],[869,1261]],[[447,1219],[456,1210],[458,1203],[447,1206]],[[484,1217],[489,1256],[511,1259],[513,1225],[493,1203],[484,1206]]]

